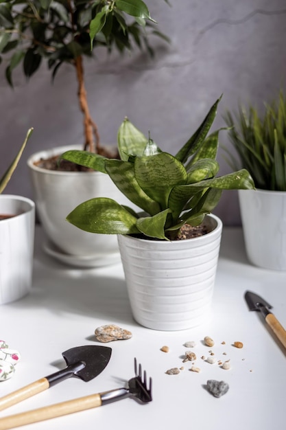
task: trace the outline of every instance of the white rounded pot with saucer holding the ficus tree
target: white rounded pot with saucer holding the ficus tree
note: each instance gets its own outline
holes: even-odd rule
[[[40,158],[59,155],[79,146],[62,146],[37,152],[27,164],[34,188],[36,210],[49,242],[45,250],[67,264],[97,267],[120,261],[114,235],[91,234],[67,222],[67,215],[80,203],[94,197],[110,197],[132,205],[107,174],[101,172],[58,172],[34,165]]]

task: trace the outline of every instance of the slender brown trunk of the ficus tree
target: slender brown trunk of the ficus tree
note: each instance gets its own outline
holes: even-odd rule
[[[85,143],[84,149],[88,149],[90,152],[100,152],[99,133],[97,130],[97,124],[93,122],[91,114],[88,109],[88,102],[86,96],[86,88],[84,85],[84,68],[82,65],[82,56],[75,58],[75,69],[78,78],[78,98],[80,102],[80,109],[84,114],[84,136]],[[94,139],[95,137],[95,139]]]

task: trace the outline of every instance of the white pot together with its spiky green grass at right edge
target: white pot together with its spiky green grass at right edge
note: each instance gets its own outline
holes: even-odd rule
[[[239,106],[226,115],[239,165],[248,169],[256,190],[239,190],[246,252],[252,264],[263,269],[286,270],[286,96],[263,104]],[[261,106],[262,107],[262,106]],[[261,111],[262,112],[262,111]],[[229,152],[230,155],[230,152]],[[230,155],[230,165],[236,165]]]

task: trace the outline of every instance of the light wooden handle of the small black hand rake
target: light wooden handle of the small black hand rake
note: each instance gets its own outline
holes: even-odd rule
[[[91,396],[76,398],[74,400],[68,400],[67,402],[56,403],[55,405],[23,412],[22,414],[0,418],[0,430],[14,429],[14,427],[73,414],[73,412],[84,411],[84,409],[91,409],[101,405],[102,399],[100,394],[91,394]]]

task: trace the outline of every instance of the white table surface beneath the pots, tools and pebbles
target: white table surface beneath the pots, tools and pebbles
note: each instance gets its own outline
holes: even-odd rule
[[[43,240],[37,227],[32,293],[0,306],[0,339],[22,356],[14,377],[0,383],[1,396],[64,367],[62,352],[73,346],[110,346],[112,357],[93,381],[70,378],[1,411],[1,417],[117,388],[134,376],[136,357],[153,379],[151,403],[139,405],[128,398],[23,429],[285,429],[286,352],[261,315],[248,311],[243,294],[251,290],[262,295],[286,327],[286,272],[253,267],[246,258],[241,229],[224,228],[210,320],[180,332],[150,330],[134,322],[121,264],[68,267],[45,255]],[[97,342],[94,330],[103,324],[130,330],[132,339]],[[202,343],[206,335],[215,340],[213,348]],[[193,351],[200,373],[189,371],[191,363],[182,363],[186,341],[197,342]],[[235,348],[234,341],[242,341],[243,348]],[[164,345],[169,353],[160,351]],[[231,369],[204,362],[200,357],[207,357],[209,350],[218,360],[230,359]],[[180,374],[165,374],[182,365]],[[226,381],[228,393],[211,396],[205,389],[208,379]]]

